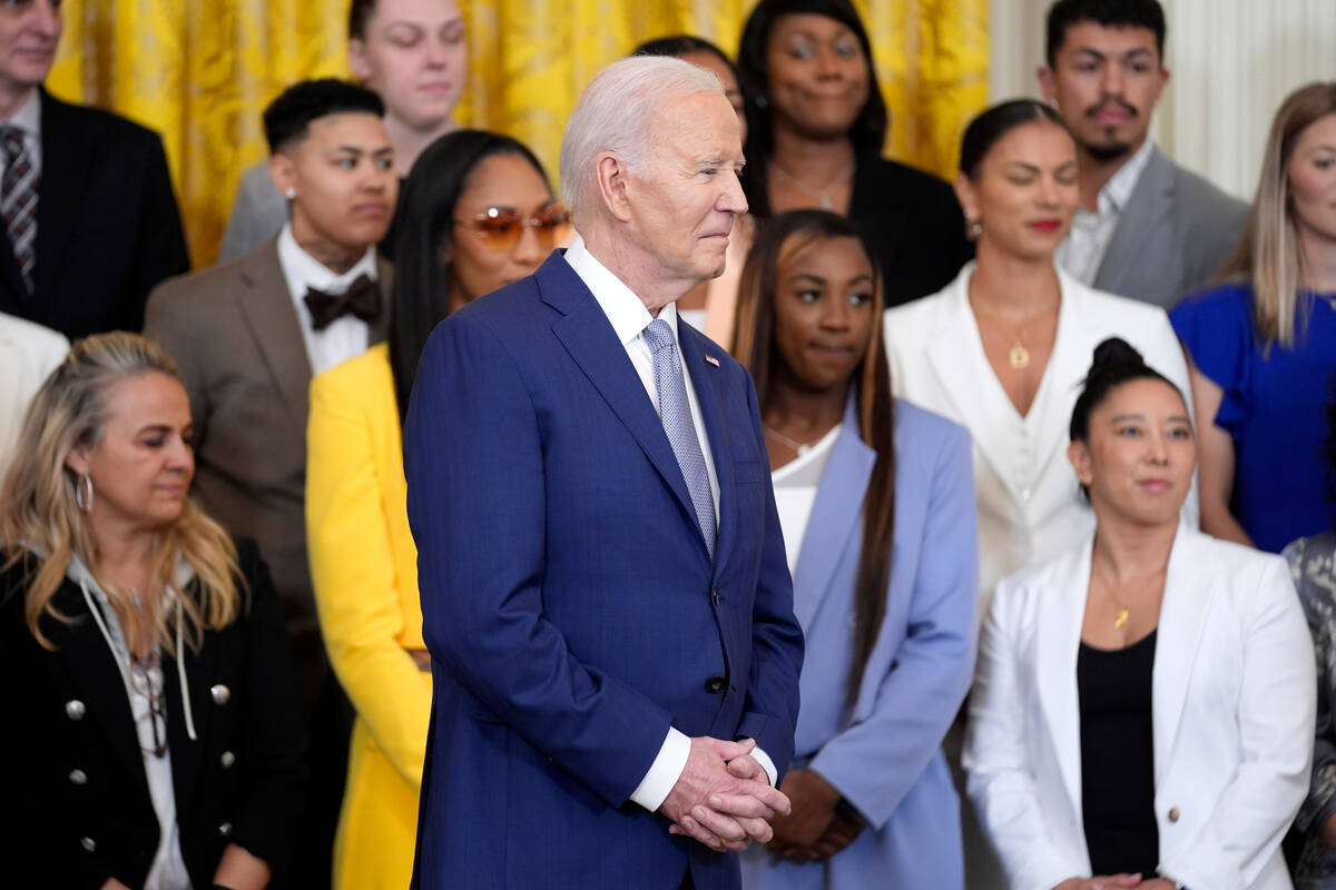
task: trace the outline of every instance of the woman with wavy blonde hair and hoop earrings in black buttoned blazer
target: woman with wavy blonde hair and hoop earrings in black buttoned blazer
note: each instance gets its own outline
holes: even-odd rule
[[[282,616],[255,547],[187,498],[192,436],[132,334],[76,343],[28,412],[0,490],[5,886],[261,890],[287,858]]]

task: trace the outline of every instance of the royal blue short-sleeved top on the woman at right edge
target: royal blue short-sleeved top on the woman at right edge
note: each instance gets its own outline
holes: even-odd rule
[[[1332,524],[1324,458],[1328,380],[1336,371],[1331,296],[1300,296],[1295,347],[1269,351],[1253,326],[1246,284],[1200,291],[1169,314],[1197,368],[1224,392],[1216,426],[1234,442],[1229,510],[1271,552]]]

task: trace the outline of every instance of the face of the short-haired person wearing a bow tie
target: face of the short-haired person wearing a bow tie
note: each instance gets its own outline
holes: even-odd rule
[[[385,238],[399,180],[394,149],[375,115],[346,112],[311,121],[306,137],[274,155],[274,184],[291,188],[293,235],[303,247],[363,251]]]

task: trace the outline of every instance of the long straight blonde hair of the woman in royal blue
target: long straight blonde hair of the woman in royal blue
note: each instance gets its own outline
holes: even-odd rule
[[[1300,87],[1281,104],[1267,136],[1248,224],[1220,270],[1221,280],[1252,283],[1253,316],[1268,347],[1295,346],[1299,287],[1305,271],[1289,193],[1289,161],[1300,135],[1331,113],[1336,113],[1336,81]],[[1307,324],[1307,318],[1303,320]]]

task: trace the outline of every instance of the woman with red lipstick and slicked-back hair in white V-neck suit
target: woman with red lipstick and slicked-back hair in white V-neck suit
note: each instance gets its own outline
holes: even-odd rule
[[[1026,99],[982,112],[955,179],[978,259],[941,292],[886,312],[895,395],[974,440],[981,607],[999,578],[1094,530],[1062,448],[1096,344],[1121,336],[1188,391],[1164,310],[1090,290],[1054,266],[1079,200],[1075,168],[1075,143],[1047,105]],[[1196,507],[1193,492],[1193,524]]]

